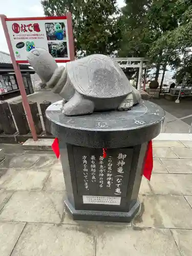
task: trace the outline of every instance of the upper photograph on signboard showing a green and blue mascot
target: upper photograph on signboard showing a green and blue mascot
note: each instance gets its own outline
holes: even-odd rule
[[[66,26],[62,23],[46,23],[47,40],[66,40]]]

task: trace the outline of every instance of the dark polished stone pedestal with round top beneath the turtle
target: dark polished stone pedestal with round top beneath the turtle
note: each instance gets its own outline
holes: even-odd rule
[[[65,204],[73,218],[131,221],[140,206],[137,197],[148,142],[160,133],[164,111],[142,100],[127,112],[70,117],[61,113],[58,101],[46,115],[59,139]]]

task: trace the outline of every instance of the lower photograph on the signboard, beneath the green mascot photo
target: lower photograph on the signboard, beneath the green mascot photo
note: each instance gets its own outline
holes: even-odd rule
[[[53,58],[68,57],[67,42],[50,41],[48,42],[48,48]]]

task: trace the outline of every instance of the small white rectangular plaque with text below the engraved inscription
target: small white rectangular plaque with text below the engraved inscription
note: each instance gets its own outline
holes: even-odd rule
[[[120,205],[120,197],[82,196],[83,204]]]

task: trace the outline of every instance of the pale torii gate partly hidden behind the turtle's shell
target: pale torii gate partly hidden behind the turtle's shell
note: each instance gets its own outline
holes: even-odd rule
[[[140,90],[142,71],[143,71],[143,68],[146,68],[146,64],[144,62],[147,62],[147,60],[145,58],[114,58],[114,60],[118,62],[121,68],[139,68],[139,79],[137,84],[137,90]],[[123,64],[119,62],[123,62]]]

